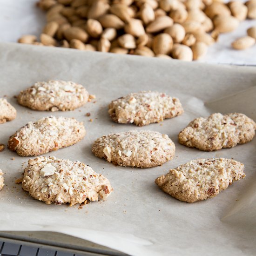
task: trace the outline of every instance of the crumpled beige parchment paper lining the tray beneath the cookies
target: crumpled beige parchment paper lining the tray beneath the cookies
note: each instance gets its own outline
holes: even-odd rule
[[[216,111],[243,112],[256,120],[256,68],[1,43],[0,77],[0,97],[7,95],[18,112],[14,121],[0,125],[4,144],[28,121],[52,114],[21,107],[13,98],[34,82],[71,80],[95,94],[95,102],[82,108],[53,113],[84,121],[87,135],[72,147],[46,155],[85,162],[108,177],[115,189],[107,201],[91,202],[82,209],[46,205],[14,183],[29,157],[5,149],[0,153],[6,183],[0,192],[0,230],[61,232],[130,255],[255,254],[256,139],[235,148],[202,152],[179,145],[177,134],[195,117]],[[178,97],[185,113],[142,128],[112,122],[108,103],[139,90]],[[92,154],[96,138],[130,129],[168,134],[176,145],[175,158],[160,167],[137,169],[116,167]],[[246,177],[215,198],[193,204],[180,202],[155,185],[155,178],[170,168],[199,157],[233,157],[245,164]]]

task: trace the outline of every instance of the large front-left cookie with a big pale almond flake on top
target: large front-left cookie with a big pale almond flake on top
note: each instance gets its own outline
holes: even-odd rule
[[[82,162],[37,157],[28,161],[22,188],[47,204],[105,200],[112,192],[107,178]]]

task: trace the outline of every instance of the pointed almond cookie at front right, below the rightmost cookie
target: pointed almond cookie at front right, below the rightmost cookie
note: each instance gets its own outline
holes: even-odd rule
[[[184,202],[214,197],[245,177],[244,165],[231,159],[197,159],[170,169],[155,180],[166,193]]]

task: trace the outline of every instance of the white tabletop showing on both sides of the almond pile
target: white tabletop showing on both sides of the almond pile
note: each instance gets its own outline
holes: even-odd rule
[[[22,34],[39,36],[45,25],[45,14],[36,7],[37,0],[0,0],[0,41],[16,42]],[[219,41],[209,47],[202,60],[210,63],[255,64],[256,45],[237,51],[230,47],[233,40],[246,35],[246,29],[256,26],[256,20],[241,22],[236,31],[222,34]]]

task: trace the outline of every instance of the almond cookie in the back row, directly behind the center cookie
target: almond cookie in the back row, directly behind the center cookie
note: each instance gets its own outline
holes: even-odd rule
[[[151,91],[128,94],[108,105],[108,113],[113,121],[138,126],[160,122],[183,112],[179,99]]]

